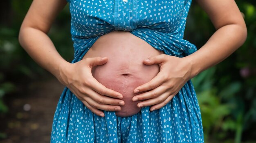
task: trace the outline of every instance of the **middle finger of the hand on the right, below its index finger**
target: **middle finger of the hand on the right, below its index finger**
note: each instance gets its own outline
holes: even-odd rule
[[[153,90],[150,90],[148,92],[133,96],[132,101],[146,100],[146,99],[150,99],[150,98],[157,98],[158,96],[162,95],[166,91],[167,91],[166,87],[159,86],[159,87],[157,87]]]

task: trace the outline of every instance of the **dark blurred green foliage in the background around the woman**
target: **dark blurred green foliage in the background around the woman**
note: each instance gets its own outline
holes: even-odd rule
[[[247,41],[225,61],[192,79],[202,112],[205,142],[256,142],[256,2],[236,0],[247,24]],[[39,67],[18,43],[20,24],[31,0],[10,0],[0,21],[0,115],[8,112],[4,99],[20,85],[38,80],[47,71]],[[1,12],[2,12],[1,11]],[[215,31],[207,14],[192,2],[184,39],[198,49]],[[58,15],[49,37],[58,52],[72,61],[68,6]],[[4,137],[0,133],[0,138]]]

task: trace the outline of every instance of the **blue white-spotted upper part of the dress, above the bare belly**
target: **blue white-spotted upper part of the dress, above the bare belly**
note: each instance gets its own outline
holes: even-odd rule
[[[191,0],[67,1],[75,51],[88,50],[113,30],[129,31],[168,55],[183,57],[197,50],[183,39]]]

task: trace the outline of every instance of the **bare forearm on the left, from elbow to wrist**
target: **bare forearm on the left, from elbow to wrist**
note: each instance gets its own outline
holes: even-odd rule
[[[45,32],[29,26],[21,28],[19,42],[38,65],[52,73],[56,78],[60,78],[60,67],[69,62],[61,57]]]

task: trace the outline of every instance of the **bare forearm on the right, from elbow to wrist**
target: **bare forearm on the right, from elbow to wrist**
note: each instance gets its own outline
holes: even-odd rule
[[[246,37],[245,26],[229,24],[219,28],[202,48],[184,57],[191,62],[191,78],[223,61],[243,45]]]

